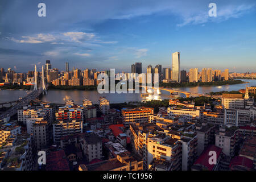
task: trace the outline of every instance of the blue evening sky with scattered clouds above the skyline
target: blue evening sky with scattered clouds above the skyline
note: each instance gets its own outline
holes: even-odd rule
[[[46,17],[38,4],[46,4]],[[209,3],[217,16],[210,17]],[[131,64],[256,72],[254,0],[0,1],[0,68],[27,72],[34,64],[65,69],[131,71]]]

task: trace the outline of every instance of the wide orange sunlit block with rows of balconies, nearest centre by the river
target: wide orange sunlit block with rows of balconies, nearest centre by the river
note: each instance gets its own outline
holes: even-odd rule
[[[154,114],[154,109],[151,107],[138,107],[135,109],[122,109],[123,123],[144,123],[148,122],[150,114]]]

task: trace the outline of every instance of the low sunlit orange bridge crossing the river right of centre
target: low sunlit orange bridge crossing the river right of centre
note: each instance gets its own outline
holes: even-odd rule
[[[155,88],[152,86],[141,86],[142,88],[145,88],[146,90],[148,89],[152,89],[152,90],[155,90]],[[158,88],[159,90],[164,90],[164,91],[167,91],[167,92],[170,92],[170,93],[183,93],[185,94],[185,96],[188,98],[191,96],[191,94],[195,95],[195,96],[205,96],[205,97],[211,97],[211,98],[216,98],[216,99],[219,99],[221,98],[221,96],[210,96],[209,94],[203,94],[203,93],[196,93],[196,92],[188,92],[188,91],[185,91],[185,90],[176,90],[176,89],[171,89],[171,88],[164,88],[164,87],[159,87]]]

